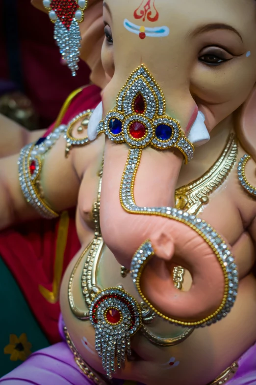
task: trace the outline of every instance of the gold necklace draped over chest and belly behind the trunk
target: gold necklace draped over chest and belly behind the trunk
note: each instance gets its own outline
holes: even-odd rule
[[[189,213],[197,213],[201,207],[206,203],[206,198],[208,202],[208,195],[217,189],[227,178],[230,170],[232,169],[237,156],[237,142],[236,138],[233,134],[230,135],[227,145],[223,150],[220,158],[217,162],[207,171],[203,177],[195,180],[193,183],[183,186],[176,190],[176,197],[179,198],[178,203],[181,201],[184,202],[184,199],[181,198],[182,194],[186,194],[186,203],[183,207]],[[74,298],[72,294],[72,286],[74,281],[74,276],[77,271],[77,267],[80,262],[87,254],[86,261],[83,268],[82,278],[81,278],[81,286],[82,293],[85,299],[85,303],[89,308],[91,306],[92,300],[94,297],[101,291],[101,289],[97,286],[96,283],[96,272],[97,266],[99,263],[100,255],[102,253],[102,248],[104,245],[103,238],[100,230],[100,198],[101,198],[101,184],[102,184],[102,170],[99,174],[100,182],[98,189],[97,202],[94,203],[93,206],[93,220],[95,224],[95,236],[93,241],[88,245],[88,247],[83,251],[77,263],[72,271],[70,281],[69,281],[69,303],[73,314],[80,320],[88,320],[88,312],[84,312],[78,309],[74,303]],[[187,193],[186,193],[187,192]],[[206,197],[206,198],[205,198]],[[181,208],[178,206],[178,208]],[[88,253],[89,251],[89,253]],[[124,267],[121,267],[121,275],[125,277],[128,273],[128,270]],[[183,278],[185,274],[185,269],[183,267],[175,267],[173,271],[173,280],[177,289],[182,289]],[[152,312],[145,307],[144,303],[141,303],[141,310],[143,315],[144,324],[149,324],[153,321],[154,315]],[[187,338],[193,331],[193,328],[184,329],[182,335],[176,338],[159,338],[151,333],[145,325],[143,325],[141,331],[143,334],[154,344],[160,346],[172,346]]]

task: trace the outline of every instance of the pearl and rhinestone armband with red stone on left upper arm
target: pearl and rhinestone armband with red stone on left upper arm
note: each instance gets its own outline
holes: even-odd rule
[[[64,139],[67,143],[65,150],[66,156],[73,146],[84,146],[89,143],[87,137],[81,139],[75,138],[72,135],[72,129],[74,124],[81,119],[81,125],[77,129],[80,133],[83,130],[83,126],[88,125],[91,114],[92,110],[86,110],[78,114],[68,125],[61,124],[47,137],[40,138],[36,143],[25,146],[20,152],[18,166],[22,192],[26,201],[46,219],[56,218],[58,217],[58,213],[46,202],[40,183],[44,156],[60,138],[61,134],[64,134]]]

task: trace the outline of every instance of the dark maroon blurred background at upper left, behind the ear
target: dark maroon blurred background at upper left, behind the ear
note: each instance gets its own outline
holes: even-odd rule
[[[61,61],[53,24],[30,0],[0,0],[0,113],[29,130],[48,127],[67,96],[89,84],[89,68],[77,76]]]

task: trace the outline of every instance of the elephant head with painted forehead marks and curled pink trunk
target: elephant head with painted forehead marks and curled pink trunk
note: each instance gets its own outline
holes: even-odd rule
[[[43,8],[41,0],[32,2]],[[117,96],[133,71],[146,68],[164,95],[165,114],[177,121],[185,138],[202,144],[205,126],[214,132],[227,119],[256,159],[255,8],[255,0],[106,0],[103,41],[102,0],[89,0],[80,25],[81,59],[91,67],[93,82],[104,88],[103,117],[117,107]],[[104,240],[118,262],[130,268],[132,255],[150,239],[155,256],[143,274],[143,293],[170,318],[186,323],[204,320],[221,304],[224,271],[213,249],[192,227],[169,214],[136,214],[121,206],[128,151],[127,144],[106,138]],[[136,206],[174,207],[183,160],[179,148],[144,148],[133,186]],[[174,287],[174,265],[190,271],[193,283],[188,292]]]

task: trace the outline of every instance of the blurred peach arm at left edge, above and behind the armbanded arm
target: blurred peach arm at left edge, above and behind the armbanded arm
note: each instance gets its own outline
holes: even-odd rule
[[[36,141],[44,133],[45,130],[28,131],[0,114],[0,158],[19,152],[26,144]]]

